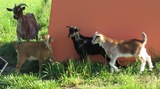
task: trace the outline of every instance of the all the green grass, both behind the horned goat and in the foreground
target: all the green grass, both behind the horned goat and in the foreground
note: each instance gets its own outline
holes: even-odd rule
[[[24,13],[34,13],[39,24],[39,37],[48,33],[52,0],[3,1],[0,5],[0,56],[9,62],[8,71],[0,74],[0,89],[160,89],[160,64],[155,63],[153,72],[146,66],[139,74],[140,63],[120,68],[120,73],[110,73],[108,64],[79,62],[47,63],[38,75],[38,62],[26,62],[21,74],[15,74],[16,20],[13,13],[6,10],[14,4],[28,5]],[[54,1],[54,0],[53,0]]]

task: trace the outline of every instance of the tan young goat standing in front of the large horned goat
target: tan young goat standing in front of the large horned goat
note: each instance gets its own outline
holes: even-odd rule
[[[41,64],[53,58],[51,42],[53,38],[49,35],[42,37],[43,42],[22,42],[15,45],[17,52],[16,70],[20,72],[21,66],[26,60],[39,60],[39,72],[41,71]]]

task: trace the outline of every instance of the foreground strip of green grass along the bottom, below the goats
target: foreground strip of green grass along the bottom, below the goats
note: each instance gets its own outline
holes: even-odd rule
[[[65,64],[43,65],[41,75],[0,75],[3,89],[159,89],[160,64],[152,72],[146,68],[139,74],[140,63],[120,68],[120,73],[110,73],[108,64],[69,61]],[[136,69],[134,72],[133,69]],[[158,70],[158,71],[157,71]]]

